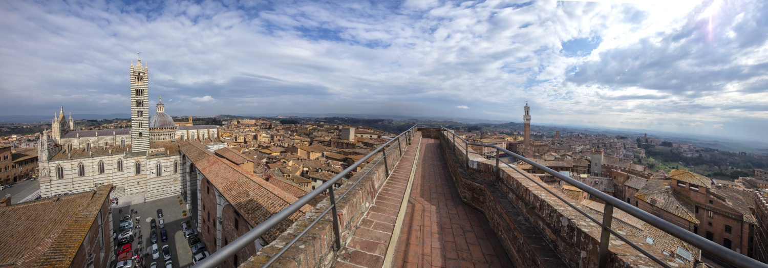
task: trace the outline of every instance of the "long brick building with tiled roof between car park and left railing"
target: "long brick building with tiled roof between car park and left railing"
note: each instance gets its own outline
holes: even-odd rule
[[[203,144],[183,141],[179,144],[184,163],[189,163],[188,179],[197,196],[191,210],[197,219],[197,230],[210,253],[247,233],[259,223],[298,200],[280,186],[257,177],[252,171],[241,167],[240,155],[222,149],[217,154]],[[230,159],[231,158],[231,159]],[[271,243],[283,233],[293,221],[312,210],[310,205],[284,220],[277,227],[265,233],[253,246],[248,246],[225,261],[220,267],[235,267],[255,254],[261,247]],[[194,226],[195,224],[193,224]]]

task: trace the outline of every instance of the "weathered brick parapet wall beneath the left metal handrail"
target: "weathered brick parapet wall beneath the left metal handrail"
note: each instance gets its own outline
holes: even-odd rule
[[[420,136],[417,134],[415,136]],[[401,141],[405,141],[402,139]],[[405,144],[405,142],[403,142]],[[405,147],[403,147],[405,149]],[[390,151],[391,150],[391,151]],[[355,176],[349,178],[349,181],[342,187],[334,189],[334,194],[338,203],[337,210],[339,210],[339,225],[341,226],[339,232],[341,233],[341,245],[344,246],[352,238],[359,221],[365,216],[365,213],[373,205],[373,200],[376,198],[376,194],[384,184],[386,179],[384,161],[379,164],[379,160],[382,159],[382,155],[374,157],[369,162],[369,165],[358,171]],[[395,167],[395,164],[400,160],[397,146],[391,146],[388,148],[387,163],[389,170]],[[374,165],[376,164],[376,165]],[[367,173],[367,175],[366,175]],[[363,175],[365,175],[363,177]],[[353,182],[362,177],[359,184],[349,190],[349,187]],[[346,197],[339,199],[341,194],[349,190],[349,194]],[[280,235],[273,243],[264,246],[263,249],[255,256],[251,256],[240,267],[261,267],[266,261],[270,260],[278,251],[283,249],[286,243],[293,240],[302,230],[310,225],[319,214],[323,213],[330,206],[328,198],[318,203],[317,206],[307,213],[300,220],[296,220],[293,225]],[[319,220],[314,227],[310,228],[307,233],[301,237],[296,243],[293,244],[283,256],[280,256],[272,266],[275,267],[329,267],[333,264],[333,260],[336,260],[336,252],[333,250],[333,218],[330,212]]]

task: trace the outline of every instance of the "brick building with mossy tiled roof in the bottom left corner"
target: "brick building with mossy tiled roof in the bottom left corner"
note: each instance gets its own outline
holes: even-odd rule
[[[0,207],[0,266],[109,266],[111,187],[16,205],[6,197]]]

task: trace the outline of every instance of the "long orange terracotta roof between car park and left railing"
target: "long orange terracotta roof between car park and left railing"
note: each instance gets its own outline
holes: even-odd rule
[[[243,215],[251,227],[257,226],[298,200],[292,194],[286,193],[242,167],[217,157],[203,144],[183,141],[180,142],[179,147],[237,212]],[[271,243],[290,227],[293,221],[298,220],[310,210],[312,210],[310,205],[301,207],[296,213],[265,233],[263,235],[265,242]]]

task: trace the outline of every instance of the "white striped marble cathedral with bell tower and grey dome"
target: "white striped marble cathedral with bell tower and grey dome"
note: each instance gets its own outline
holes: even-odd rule
[[[190,191],[179,141],[199,141],[210,150],[226,147],[214,125],[177,126],[158,101],[149,116],[149,68],[131,62],[131,128],[76,131],[62,107],[50,134],[38,141],[41,196],[94,190],[113,184],[118,194],[143,194],[154,200]]]

